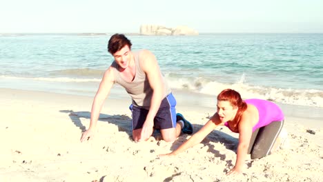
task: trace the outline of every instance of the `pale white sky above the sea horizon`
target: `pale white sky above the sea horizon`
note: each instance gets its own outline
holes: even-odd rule
[[[0,0],[0,33],[323,33],[323,0]]]

